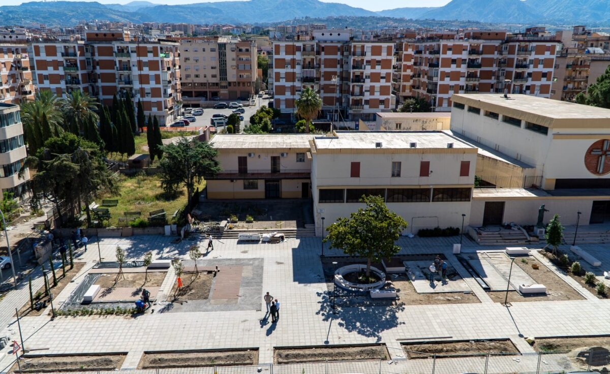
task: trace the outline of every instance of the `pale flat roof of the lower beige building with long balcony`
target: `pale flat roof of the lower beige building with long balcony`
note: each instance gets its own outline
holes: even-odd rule
[[[315,134],[218,134],[210,140],[217,149],[307,148]]]

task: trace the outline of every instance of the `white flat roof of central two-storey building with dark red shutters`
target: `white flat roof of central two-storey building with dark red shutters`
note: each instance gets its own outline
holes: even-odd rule
[[[472,149],[456,137],[441,131],[336,131],[337,136],[320,135],[314,138],[316,149],[451,149],[448,143],[453,143],[453,149]],[[381,143],[378,147],[376,143]],[[417,143],[411,148],[411,143]]]

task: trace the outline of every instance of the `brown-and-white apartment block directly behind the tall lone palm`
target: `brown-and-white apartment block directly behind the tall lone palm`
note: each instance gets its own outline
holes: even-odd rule
[[[305,87],[322,99],[321,117],[373,120],[392,109],[393,43],[351,39],[349,30],[319,30],[298,40],[273,41],[269,85],[276,109],[294,117]]]

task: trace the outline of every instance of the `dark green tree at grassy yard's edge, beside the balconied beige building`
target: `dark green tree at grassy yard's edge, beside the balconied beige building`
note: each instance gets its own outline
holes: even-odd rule
[[[176,143],[163,146],[163,160],[160,164],[161,187],[166,193],[176,193],[180,185],[187,189],[187,198],[195,192],[207,174],[217,174],[221,170],[218,151],[207,142],[188,140],[182,137]]]

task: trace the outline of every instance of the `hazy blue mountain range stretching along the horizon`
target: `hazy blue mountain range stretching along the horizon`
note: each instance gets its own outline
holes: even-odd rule
[[[70,26],[81,20],[167,23],[273,23],[294,18],[386,16],[412,20],[462,20],[515,24],[610,25],[608,0],[451,0],[442,7],[397,8],[371,12],[318,0],[249,0],[160,5],[148,1],[107,4],[39,1],[0,6],[0,24],[45,23]]]

